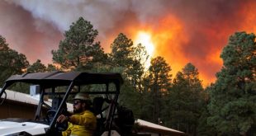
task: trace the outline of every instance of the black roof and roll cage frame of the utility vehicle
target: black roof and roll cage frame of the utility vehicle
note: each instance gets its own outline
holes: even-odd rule
[[[37,109],[36,109],[36,115],[35,120],[41,120],[41,113],[42,108],[47,107],[49,109],[52,108],[52,106],[49,106],[45,103],[44,96],[45,95],[57,95],[57,96],[63,96],[62,100],[57,108],[55,110],[55,115],[53,116],[52,120],[49,122],[49,129],[46,130],[45,134],[49,134],[52,131],[55,131],[56,129],[56,120],[58,118],[58,115],[61,112],[61,107],[63,107],[71,94],[78,93],[80,91],[80,87],[83,85],[90,85],[90,84],[103,84],[106,85],[105,91],[86,91],[88,94],[98,94],[98,95],[105,95],[106,101],[109,102],[108,106],[108,115],[106,117],[105,123],[104,123],[104,131],[108,131],[108,134],[111,134],[112,129],[112,123],[114,120],[114,115],[116,112],[116,105],[117,105],[117,99],[118,95],[120,93],[121,84],[123,84],[123,79],[121,77],[120,73],[82,73],[82,72],[50,72],[50,73],[24,73],[22,75],[13,75],[12,77],[9,77],[4,86],[2,87],[2,90],[0,91],[0,97],[6,94],[7,87],[12,86],[12,84],[16,82],[26,82],[34,85],[40,86],[40,101],[38,103]],[[114,84],[114,87],[111,86],[111,89],[114,88],[113,91],[109,90],[109,85]],[[56,91],[56,87],[67,87],[66,91]],[[73,88],[77,87],[77,91],[73,92]],[[46,91],[47,90],[47,91]],[[50,91],[49,91],[50,90]],[[111,94],[112,97],[108,97],[108,95]],[[5,96],[6,98],[6,96]],[[2,102],[4,99],[2,100]],[[0,102],[1,103],[1,102]],[[100,108],[102,112],[102,108]]]

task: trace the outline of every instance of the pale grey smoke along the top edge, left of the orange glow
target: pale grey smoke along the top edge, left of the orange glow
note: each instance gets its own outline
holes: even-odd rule
[[[129,1],[116,2],[115,0],[13,0],[11,3],[31,12],[36,19],[48,21],[61,32],[68,30],[73,21],[78,20],[79,16],[83,16],[88,21],[92,21],[97,30],[105,33],[115,26],[116,21],[124,19],[125,16],[122,16],[122,14],[130,7]]]

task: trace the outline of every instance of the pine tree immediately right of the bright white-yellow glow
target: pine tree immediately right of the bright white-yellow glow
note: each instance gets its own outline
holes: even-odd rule
[[[164,93],[171,87],[171,68],[162,57],[151,60],[148,76],[145,78],[145,92],[149,92],[145,99],[149,100],[145,107],[150,118],[148,120],[159,123],[164,109]]]

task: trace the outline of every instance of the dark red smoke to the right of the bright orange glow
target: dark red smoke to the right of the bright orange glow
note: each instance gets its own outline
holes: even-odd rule
[[[242,16],[237,13],[246,3],[239,0],[182,0],[172,6],[172,12],[185,23],[190,36],[189,42],[182,45],[182,52],[208,79],[214,77],[221,65],[207,58],[212,53],[220,53],[228,37],[239,30]]]

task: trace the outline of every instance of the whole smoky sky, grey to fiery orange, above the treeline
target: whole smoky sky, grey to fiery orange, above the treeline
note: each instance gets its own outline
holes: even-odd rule
[[[220,71],[229,36],[256,32],[255,12],[254,0],[7,0],[0,2],[0,35],[30,63],[52,63],[50,51],[83,16],[98,30],[106,52],[119,33],[135,40],[145,32],[154,57],[164,57],[173,77],[192,63],[208,84]]]

